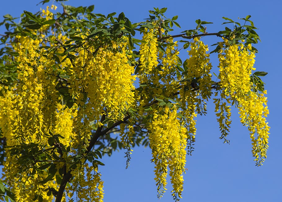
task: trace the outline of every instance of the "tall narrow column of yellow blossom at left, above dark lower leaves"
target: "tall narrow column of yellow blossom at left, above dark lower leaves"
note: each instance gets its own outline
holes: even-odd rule
[[[35,47],[33,47],[35,48]],[[18,80],[16,90],[16,110],[19,111],[16,120],[17,127],[21,132],[15,134],[26,144],[40,140],[43,127],[42,107],[44,89],[41,82],[44,67],[42,63],[37,65],[35,52],[30,51],[26,57],[25,48],[20,51],[22,63],[18,66]],[[44,60],[42,58],[42,60]],[[20,142],[19,142],[20,143]]]

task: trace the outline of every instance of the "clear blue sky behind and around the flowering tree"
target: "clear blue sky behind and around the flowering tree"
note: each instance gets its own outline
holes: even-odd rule
[[[42,5],[39,1],[9,0],[2,1],[0,21],[9,13],[19,16],[23,10],[36,12]],[[52,0],[51,0],[52,2]],[[55,2],[56,4],[56,2]],[[257,33],[262,43],[255,45],[259,53],[256,56],[257,71],[267,71],[262,77],[268,92],[268,122],[271,126],[268,158],[262,167],[256,167],[251,154],[251,140],[247,127],[242,126],[238,112],[232,108],[232,124],[229,140],[231,145],[223,144],[218,139],[220,132],[214,115],[214,104],[208,103],[208,115],[197,118],[197,135],[195,151],[187,156],[188,168],[184,176],[184,191],[181,201],[281,201],[282,199],[282,148],[281,148],[281,3],[268,1],[90,1],[70,0],[66,4],[89,6],[95,4],[95,13],[108,14],[124,12],[130,21],[138,22],[148,17],[148,10],[153,7],[167,7],[167,17],[178,15],[182,30],[194,29],[195,20],[214,22],[207,26],[208,32],[224,29],[223,16],[237,20],[251,15],[251,20],[259,28]],[[231,25],[232,26],[232,25]],[[3,28],[0,29],[3,32]],[[206,37],[205,43],[214,44],[219,39]],[[181,53],[187,57],[186,52]],[[182,59],[183,60],[183,59]],[[212,64],[217,68],[217,55],[213,55]],[[156,198],[154,181],[154,164],[150,162],[149,148],[134,148],[130,167],[126,170],[123,151],[115,152],[111,157],[105,156],[100,167],[104,180],[105,202],[111,201],[173,201],[171,186],[161,200]]]

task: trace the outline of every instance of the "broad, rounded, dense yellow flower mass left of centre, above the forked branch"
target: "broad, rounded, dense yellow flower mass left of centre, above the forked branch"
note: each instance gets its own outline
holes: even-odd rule
[[[77,104],[85,105],[84,113],[89,121],[98,120],[106,111],[112,120],[121,120],[123,112],[134,103],[134,67],[128,63],[124,44],[117,50],[100,48],[96,55],[85,53],[85,59],[78,58],[70,73],[71,94],[76,95]],[[86,96],[89,100],[86,100]]]

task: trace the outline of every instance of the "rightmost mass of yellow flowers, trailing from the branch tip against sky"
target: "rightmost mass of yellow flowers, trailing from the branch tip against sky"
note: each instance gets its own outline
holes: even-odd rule
[[[233,103],[237,102],[236,106],[239,108],[241,122],[248,126],[250,131],[254,160],[260,166],[267,157],[268,131],[270,129],[266,121],[269,113],[267,98],[264,96],[266,91],[258,94],[252,90],[253,83],[251,83],[250,75],[252,70],[255,70],[253,67],[255,55],[254,52],[248,51],[251,49],[250,44],[246,48],[242,44],[228,45],[227,39],[224,40],[225,43],[220,44],[222,49],[218,55],[220,71],[218,78],[223,88],[221,97],[229,97],[226,98],[229,103],[231,100]],[[230,109],[225,103],[222,105],[219,105],[219,101],[215,101],[215,103],[216,111],[221,110],[217,116],[224,135],[230,124]]]

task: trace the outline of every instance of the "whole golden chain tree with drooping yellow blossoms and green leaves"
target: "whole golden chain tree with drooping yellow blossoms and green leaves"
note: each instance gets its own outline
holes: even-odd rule
[[[269,126],[259,76],[267,73],[253,72],[259,37],[250,16],[243,25],[224,17],[232,30],[207,33],[210,22],[196,20],[196,29],[170,35],[180,26],[177,16],[164,16],[166,8],[134,24],[123,13],[95,14],[94,6],[56,8],[24,11],[19,24],[6,15],[1,23],[0,200],[103,201],[99,158],[124,148],[128,166],[132,148],[142,144],[152,149],[158,197],[169,175],[178,201],[196,116],[206,113],[208,99],[227,143],[231,106],[238,108],[262,165]],[[218,68],[201,41],[209,35],[220,41],[210,52]]]

